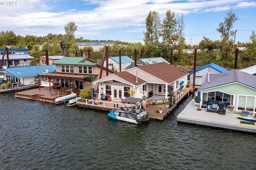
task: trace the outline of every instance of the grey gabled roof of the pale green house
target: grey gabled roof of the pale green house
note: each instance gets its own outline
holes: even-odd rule
[[[256,77],[237,69],[219,74],[210,74],[209,79],[210,83],[204,83],[198,90],[210,89],[230,83],[240,83],[256,89]],[[206,82],[208,82],[208,79],[206,79]]]

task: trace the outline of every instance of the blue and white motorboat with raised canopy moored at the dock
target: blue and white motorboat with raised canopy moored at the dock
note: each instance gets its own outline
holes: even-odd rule
[[[135,123],[141,125],[143,122],[148,121],[150,118],[147,116],[147,112],[144,108],[140,108],[138,102],[142,101],[140,98],[127,98],[123,99],[122,103],[124,107],[114,108],[108,113],[108,117],[114,120],[120,120],[130,123]],[[126,105],[131,105],[131,107],[127,107]]]

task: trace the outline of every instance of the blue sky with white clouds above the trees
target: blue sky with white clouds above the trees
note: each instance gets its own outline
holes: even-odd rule
[[[9,2],[9,3],[8,3]],[[256,1],[253,0],[17,0],[0,1],[0,31],[16,36],[65,34],[64,26],[78,26],[76,38],[144,43],[146,18],[150,11],[184,18],[186,44],[197,45],[203,37],[220,40],[216,31],[232,9],[239,20],[235,42],[250,42],[256,31]]]

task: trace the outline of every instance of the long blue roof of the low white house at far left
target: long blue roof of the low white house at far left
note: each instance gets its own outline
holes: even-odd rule
[[[2,68],[0,71],[6,71],[7,73],[13,75],[16,78],[21,77],[32,77],[36,76],[39,73],[46,72],[55,72],[55,65],[39,65],[39,66],[29,66],[29,67],[10,67],[10,68]]]

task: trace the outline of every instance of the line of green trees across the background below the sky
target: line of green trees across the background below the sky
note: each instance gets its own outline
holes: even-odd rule
[[[168,10],[165,18],[162,20],[159,12],[150,11],[146,20],[146,31],[144,34],[144,44],[127,43],[114,41],[113,45],[108,46],[108,56],[119,56],[119,49],[121,49],[121,55],[134,56],[135,49],[137,56],[142,55],[143,58],[148,57],[163,57],[167,61],[170,61],[171,50],[173,53],[174,65],[185,69],[193,70],[194,54],[184,53],[184,49],[201,49],[202,52],[198,53],[198,67],[202,67],[211,62],[214,62],[227,69],[232,69],[234,65],[234,48],[239,45],[244,45],[247,49],[240,51],[238,67],[248,67],[256,64],[256,35],[252,31],[250,41],[248,43],[236,43],[234,44],[233,24],[239,20],[238,16],[234,14],[232,9],[226,13],[224,22],[219,23],[219,27],[216,31],[220,33],[221,40],[212,41],[209,38],[203,37],[203,40],[198,44],[191,47],[185,43],[184,17],[181,15],[176,18],[174,12]],[[28,53],[35,57],[35,61],[40,64],[40,55],[45,55],[45,51],[48,50],[49,55],[63,55],[74,57],[76,51],[80,56],[80,50],[88,56],[90,50],[90,57],[100,62],[103,55],[104,47],[98,51],[93,51],[91,46],[86,46],[80,49],[76,42],[90,42],[90,41],[113,41],[113,40],[84,40],[82,37],[75,38],[75,32],[78,30],[78,26],[74,22],[68,22],[64,26],[66,34],[48,34],[47,36],[36,37],[33,35],[16,36],[12,31],[0,32],[0,47],[6,47],[6,45],[12,45],[11,48],[25,48],[28,47]],[[42,45],[42,48],[40,48]],[[134,58],[133,58],[134,59]]]

